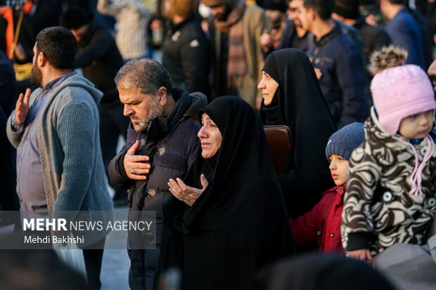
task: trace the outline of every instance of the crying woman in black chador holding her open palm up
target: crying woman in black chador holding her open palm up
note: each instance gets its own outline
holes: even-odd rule
[[[169,180],[159,270],[181,289],[252,289],[256,270],[294,252],[261,122],[225,96],[200,110],[201,150],[184,180]]]

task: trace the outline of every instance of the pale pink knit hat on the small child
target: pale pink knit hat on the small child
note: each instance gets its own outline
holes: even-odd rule
[[[417,65],[400,65],[379,72],[371,81],[378,121],[395,135],[403,118],[436,109],[435,92]]]

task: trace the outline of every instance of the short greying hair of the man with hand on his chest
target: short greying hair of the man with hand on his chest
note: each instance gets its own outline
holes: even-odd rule
[[[171,78],[162,65],[150,58],[136,58],[123,65],[115,76],[115,84],[123,81],[141,88],[141,93],[155,95],[161,86],[171,95]]]

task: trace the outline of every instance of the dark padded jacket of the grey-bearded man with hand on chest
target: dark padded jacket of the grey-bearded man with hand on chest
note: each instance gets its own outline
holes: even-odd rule
[[[172,196],[167,185],[168,180],[183,178],[193,162],[199,145],[197,132],[200,124],[196,120],[198,110],[207,104],[202,93],[188,95],[181,88],[173,88],[172,97],[176,105],[168,117],[153,119],[146,132],[136,132],[129,126],[126,144],[109,164],[109,176],[113,183],[129,189],[129,209],[156,212],[156,236],[152,237],[156,249],[160,247],[162,205]],[[141,147],[135,154],[150,157],[151,173],[146,180],[131,180],[124,171],[124,155],[136,140],[141,140]],[[130,249],[129,246],[128,253],[132,263],[129,273],[131,289],[149,289],[153,285],[150,275],[153,277],[159,251]]]

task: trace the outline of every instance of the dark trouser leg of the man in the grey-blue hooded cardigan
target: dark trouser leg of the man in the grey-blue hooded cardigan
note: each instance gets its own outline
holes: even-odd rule
[[[86,277],[88,277],[88,286],[90,290],[101,289],[100,273],[104,245],[105,239],[101,239],[100,241],[90,244],[83,249]]]

